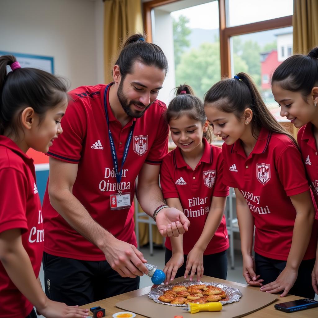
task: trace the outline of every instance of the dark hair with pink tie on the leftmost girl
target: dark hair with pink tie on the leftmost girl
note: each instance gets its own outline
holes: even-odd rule
[[[7,73],[7,65],[16,62],[13,55],[0,56],[0,135],[7,128],[17,134],[16,114],[32,107],[44,118],[49,108],[67,100],[67,86],[61,79],[36,68],[16,68]]]

